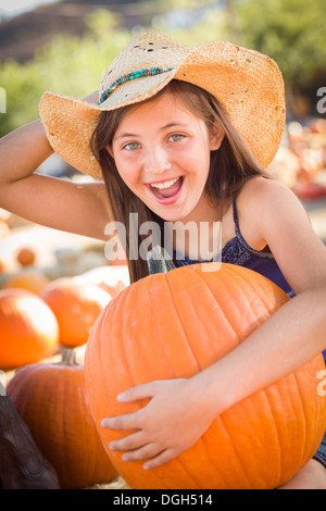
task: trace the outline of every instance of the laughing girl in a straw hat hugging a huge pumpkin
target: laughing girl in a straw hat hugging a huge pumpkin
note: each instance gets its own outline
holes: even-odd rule
[[[36,121],[1,140],[2,208],[104,240],[108,222],[122,222],[128,257],[143,239],[139,226],[155,222],[159,250],[154,247],[148,261],[129,257],[131,282],[193,262],[191,250],[200,239],[186,237],[180,254],[174,238],[167,253],[164,222],[205,222],[210,242],[222,222],[216,258],[251,267],[292,298],[196,378],[152,382],[118,397],[151,398],[140,411],[102,423],[137,429],[110,448],[125,451],[125,461],[147,460],[149,470],[188,449],[216,414],[326,348],[325,247],[299,200],[265,171],[284,132],[283,78],[269,58],[228,42],[191,49],[141,35],[106,70],[99,100],[47,92],[39,111],[42,124]],[[99,180],[75,185],[34,174],[52,148]],[[138,214],[136,228],[129,226],[130,213]],[[324,439],[285,487],[326,488],[325,466]]]

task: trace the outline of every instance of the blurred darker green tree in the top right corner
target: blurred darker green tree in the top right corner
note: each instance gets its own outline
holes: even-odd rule
[[[243,46],[278,63],[296,115],[300,91],[325,71],[325,0],[238,0],[236,7]]]

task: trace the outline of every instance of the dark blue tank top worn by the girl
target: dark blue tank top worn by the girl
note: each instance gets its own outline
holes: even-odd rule
[[[260,273],[266,278],[269,278],[269,281],[274,282],[290,298],[293,298],[296,295],[290,288],[287,281],[285,279],[269,248],[265,247],[264,250],[260,251],[254,250],[247,244],[246,239],[241,235],[236,199],[233,202],[233,211],[236,236],[229,239],[223,247],[222,251],[214,256],[212,260],[198,261],[188,259],[187,257],[183,257],[180,259],[180,254],[176,251],[173,252],[173,257],[171,258],[166,250],[164,250],[162,247],[156,246],[148,253],[147,260],[149,273],[166,273],[170,270],[186,266],[188,264],[221,261],[223,263],[236,264],[238,266],[248,267],[250,270],[253,270],[254,272]],[[323,352],[323,356],[326,362],[326,350]]]

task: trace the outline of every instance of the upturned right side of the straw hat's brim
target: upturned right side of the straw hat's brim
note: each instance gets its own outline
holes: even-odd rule
[[[284,79],[274,60],[230,42],[208,42],[185,57],[175,78],[217,98],[255,159],[269,165],[286,120]]]

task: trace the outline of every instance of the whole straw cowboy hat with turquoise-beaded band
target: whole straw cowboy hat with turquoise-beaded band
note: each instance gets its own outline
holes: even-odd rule
[[[285,127],[284,82],[268,57],[225,41],[190,48],[158,34],[134,37],[104,72],[99,103],[45,92],[39,113],[53,150],[102,179],[89,147],[99,115],[151,98],[172,79],[195,84],[224,107],[256,160],[266,167]]]

